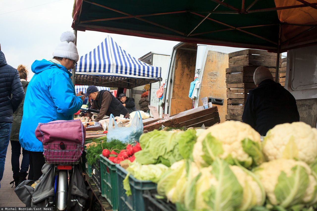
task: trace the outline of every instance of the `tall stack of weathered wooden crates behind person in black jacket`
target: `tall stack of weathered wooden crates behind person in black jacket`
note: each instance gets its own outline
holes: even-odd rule
[[[242,121],[248,93],[250,89],[256,88],[253,74],[256,68],[260,66],[267,67],[275,79],[276,53],[246,49],[229,54],[229,68],[226,68],[227,120]]]

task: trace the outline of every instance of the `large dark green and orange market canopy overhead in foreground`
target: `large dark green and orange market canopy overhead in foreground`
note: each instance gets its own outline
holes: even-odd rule
[[[281,52],[317,43],[316,0],[76,0],[77,30]]]

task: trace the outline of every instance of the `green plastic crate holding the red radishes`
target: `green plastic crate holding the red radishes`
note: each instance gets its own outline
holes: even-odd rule
[[[113,210],[118,210],[117,167],[107,157],[100,155],[101,195],[107,199]]]

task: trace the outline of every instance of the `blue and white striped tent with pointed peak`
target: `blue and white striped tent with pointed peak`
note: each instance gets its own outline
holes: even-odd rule
[[[110,36],[80,57],[75,75],[76,84],[128,89],[162,80],[161,67],[134,58]]]

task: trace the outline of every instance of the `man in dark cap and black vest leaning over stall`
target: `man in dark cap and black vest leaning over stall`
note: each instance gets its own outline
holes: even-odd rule
[[[94,119],[95,122],[103,119],[105,115],[110,116],[110,114],[115,117],[119,117],[121,114],[124,117],[130,117],[128,110],[107,90],[98,91],[96,86],[89,86],[85,96],[94,100],[90,108],[100,111],[98,117]],[[92,116],[93,114],[88,114],[86,121]]]

